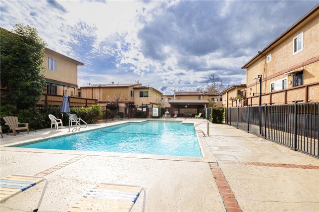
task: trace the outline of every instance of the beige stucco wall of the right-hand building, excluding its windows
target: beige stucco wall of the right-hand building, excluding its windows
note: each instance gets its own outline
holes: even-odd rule
[[[303,35],[303,49],[298,53],[293,53],[294,38],[298,35]],[[319,11],[304,20],[295,28],[287,33],[284,37],[269,46],[262,52],[263,55],[257,57],[255,61],[246,65],[247,69],[247,97],[253,97],[254,93],[260,90],[258,75],[263,76],[262,93],[271,93],[271,84],[282,79],[287,79],[287,101],[292,103],[296,100],[303,100],[304,102],[318,101],[319,97],[311,99],[313,93],[309,93],[309,100],[305,100],[306,88],[293,88],[293,75],[295,73],[287,74],[293,71],[303,71],[303,85],[316,84],[319,82]],[[267,56],[271,56],[269,62],[266,61]],[[302,91],[301,91],[302,90]],[[263,104],[282,104],[285,103],[284,94],[276,94],[265,99]],[[309,90],[309,92],[311,92]],[[272,92],[273,93],[273,92]],[[280,92],[279,92],[280,93]],[[319,95],[318,95],[319,96]],[[271,99],[270,99],[271,98]],[[256,99],[253,98],[253,99]],[[256,103],[256,100],[253,100]],[[258,101],[257,101],[258,102]],[[259,104],[259,103],[258,103]]]

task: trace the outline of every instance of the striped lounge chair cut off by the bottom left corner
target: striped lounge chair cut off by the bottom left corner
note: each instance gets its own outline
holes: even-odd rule
[[[38,203],[38,206],[33,212],[37,212],[40,208],[46,187],[48,185],[48,179],[42,176],[33,176],[33,175],[18,175],[13,174],[9,176],[2,177],[0,179],[0,203],[6,202],[11,197],[24,192],[25,190],[41,183],[45,180],[45,186]]]

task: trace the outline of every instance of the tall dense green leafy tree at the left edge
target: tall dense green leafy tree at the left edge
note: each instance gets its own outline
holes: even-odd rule
[[[1,104],[15,109],[34,107],[45,86],[43,58],[46,43],[35,28],[16,24],[12,32],[0,28]]]

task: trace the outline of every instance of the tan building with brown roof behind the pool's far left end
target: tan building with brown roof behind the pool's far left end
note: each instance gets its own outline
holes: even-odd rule
[[[82,98],[97,99],[98,104],[105,106],[108,100],[118,98],[119,106],[151,106],[160,102],[162,93],[152,87],[135,84],[89,85],[81,87],[79,94]]]

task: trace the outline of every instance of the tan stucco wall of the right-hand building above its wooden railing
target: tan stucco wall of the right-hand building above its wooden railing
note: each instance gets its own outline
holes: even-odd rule
[[[319,16],[300,26],[292,30],[292,33],[279,45],[264,53],[266,56],[271,54],[270,62],[266,63],[266,56],[264,56],[247,68],[247,97],[252,97],[253,93],[259,93],[259,83],[254,84],[260,74],[263,75],[262,93],[270,93],[270,84],[284,78],[288,78],[288,88],[292,88],[293,74],[288,76],[284,73],[289,69],[293,70],[295,66],[304,66],[304,85],[319,82],[319,61],[316,61],[319,57]],[[303,50],[294,55],[293,39],[301,32],[303,32]]]

